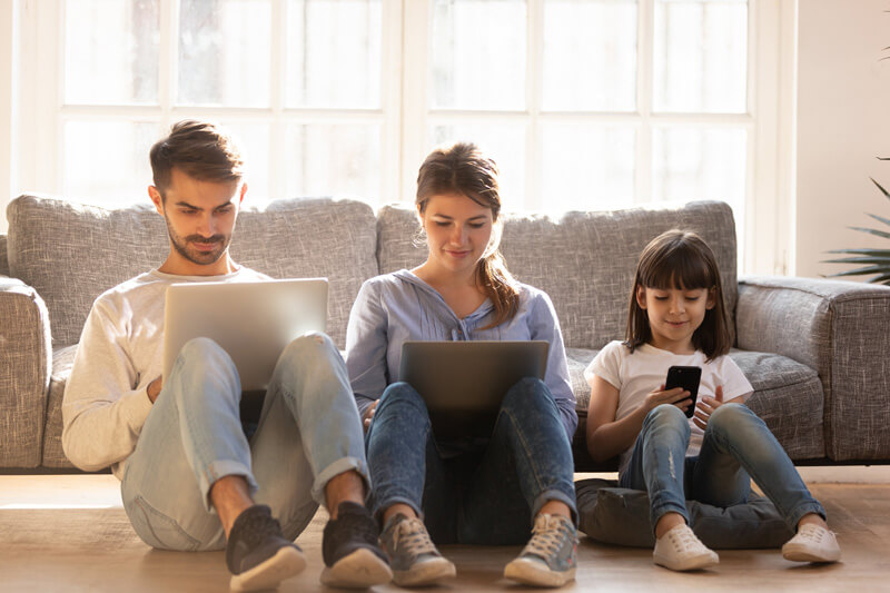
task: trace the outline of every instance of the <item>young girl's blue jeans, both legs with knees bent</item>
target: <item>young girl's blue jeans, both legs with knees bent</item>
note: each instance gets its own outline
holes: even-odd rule
[[[620,485],[645,490],[655,527],[665,513],[689,523],[685,500],[728,507],[748,502],[751,478],[773,502],[791,531],[808,513],[825,511],[812,497],[767,424],[740,404],[720,406],[708,422],[698,457],[686,457],[689,419],[676,406],[661,405],[643,421]]]

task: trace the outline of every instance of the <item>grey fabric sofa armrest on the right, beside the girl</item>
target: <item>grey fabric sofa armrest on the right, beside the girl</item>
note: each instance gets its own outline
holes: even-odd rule
[[[890,459],[890,287],[742,277],[735,324],[740,348],[819,373],[829,458]]]

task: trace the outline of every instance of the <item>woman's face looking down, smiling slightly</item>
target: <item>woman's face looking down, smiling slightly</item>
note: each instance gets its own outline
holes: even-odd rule
[[[461,194],[436,195],[418,214],[429,247],[428,264],[439,273],[472,274],[492,237],[492,209]]]

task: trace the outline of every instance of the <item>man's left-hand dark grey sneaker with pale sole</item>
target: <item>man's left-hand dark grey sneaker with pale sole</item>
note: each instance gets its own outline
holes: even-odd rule
[[[281,533],[269,507],[255,504],[241,512],[226,543],[233,591],[274,589],[306,566],[303,551]]]

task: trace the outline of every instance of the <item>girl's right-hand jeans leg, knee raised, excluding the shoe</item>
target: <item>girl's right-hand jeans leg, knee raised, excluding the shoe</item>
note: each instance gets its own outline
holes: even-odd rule
[[[693,476],[693,497],[723,507],[744,503],[749,475],[792,531],[808,514],[825,517],[767,424],[743,405],[724,404],[708,422]]]

